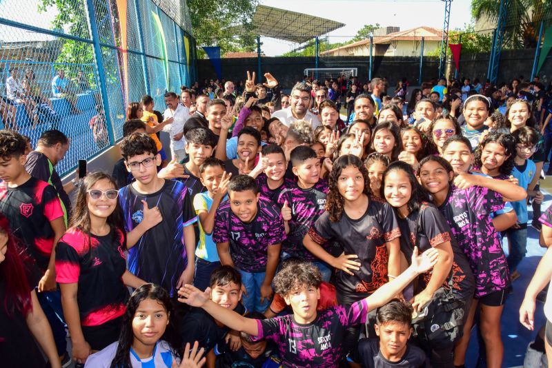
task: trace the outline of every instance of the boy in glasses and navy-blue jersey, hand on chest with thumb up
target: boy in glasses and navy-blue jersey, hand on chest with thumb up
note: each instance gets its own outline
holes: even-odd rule
[[[144,133],[123,139],[121,154],[136,181],[119,190],[127,232],[128,269],[170,296],[194,276],[197,220],[186,186],[157,176],[161,157]]]

